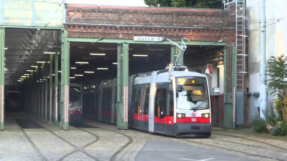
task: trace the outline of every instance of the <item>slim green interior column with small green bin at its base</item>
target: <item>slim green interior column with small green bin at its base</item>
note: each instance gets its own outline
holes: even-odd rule
[[[58,121],[58,49],[55,49],[54,122]],[[54,124],[55,126],[57,124]]]

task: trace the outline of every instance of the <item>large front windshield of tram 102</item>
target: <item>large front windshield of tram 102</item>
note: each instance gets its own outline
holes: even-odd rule
[[[208,108],[208,92],[205,77],[177,77],[177,109],[197,110]],[[180,90],[178,88],[181,88]]]

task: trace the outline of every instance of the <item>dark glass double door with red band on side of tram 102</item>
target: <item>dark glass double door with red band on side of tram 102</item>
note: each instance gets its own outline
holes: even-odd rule
[[[166,134],[167,89],[158,88],[155,94],[155,132]]]

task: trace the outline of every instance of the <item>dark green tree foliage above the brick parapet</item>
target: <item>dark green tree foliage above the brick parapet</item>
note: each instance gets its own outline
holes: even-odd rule
[[[148,6],[155,7],[191,7],[222,9],[222,1],[218,0],[144,0]]]

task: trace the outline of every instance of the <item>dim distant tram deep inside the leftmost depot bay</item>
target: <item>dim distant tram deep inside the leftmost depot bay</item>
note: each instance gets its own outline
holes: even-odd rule
[[[20,110],[20,96],[21,92],[17,90],[9,90],[5,97],[5,110],[6,111],[19,111]]]

